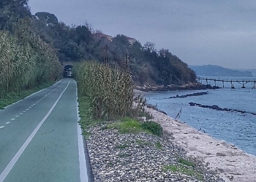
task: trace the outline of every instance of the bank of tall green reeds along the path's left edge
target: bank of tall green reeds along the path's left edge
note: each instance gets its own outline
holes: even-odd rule
[[[56,54],[33,33],[0,31],[0,98],[53,80],[61,74]]]

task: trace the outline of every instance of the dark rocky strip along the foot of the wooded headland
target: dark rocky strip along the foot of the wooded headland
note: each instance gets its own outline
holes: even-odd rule
[[[201,83],[189,83],[183,85],[168,84],[167,86],[136,86],[135,89],[140,91],[169,91],[169,90],[206,90],[206,89],[219,89],[220,87],[211,86],[211,84],[201,84]]]

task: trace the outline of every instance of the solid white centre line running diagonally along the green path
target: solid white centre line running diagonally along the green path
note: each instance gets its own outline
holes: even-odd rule
[[[70,83],[70,81],[69,81]],[[67,87],[69,87],[69,83],[67,84]],[[67,87],[63,90],[63,92],[61,92],[61,95],[59,95],[59,98],[56,100],[56,102],[53,104],[53,106],[50,108],[50,111],[48,111],[48,114],[45,115],[45,117],[42,119],[41,122],[39,122],[39,124],[37,125],[37,127],[34,129],[34,131],[31,133],[31,135],[29,136],[28,139],[26,139],[25,143],[23,143],[23,145],[20,147],[20,149],[18,150],[18,152],[15,154],[15,156],[12,158],[12,160],[9,162],[9,164],[7,165],[7,167],[4,168],[3,172],[0,175],[0,181],[3,182],[4,179],[7,177],[7,175],[10,173],[10,170],[12,170],[12,167],[15,165],[15,163],[18,161],[18,159],[20,158],[21,154],[23,153],[23,151],[25,151],[26,147],[29,146],[29,143],[32,141],[32,139],[34,138],[34,135],[37,134],[39,128],[42,126],[42,124],[45,122],[46,119],[48,119],[48,116],[51,114],[51,112],[53,111],[53,108],[55,108],[55,106],[57,105],[57,103],[59,102],[59,100],[61,99],[61,96],[63,95],[63,93],[67,90]],[[1,128],[1,127],[0,127]]]

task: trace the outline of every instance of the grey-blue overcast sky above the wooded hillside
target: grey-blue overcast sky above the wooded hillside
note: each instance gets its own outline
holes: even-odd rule
[[[255,0],[29,0],[68,25],[154,42],[189,65],[256,68]]]

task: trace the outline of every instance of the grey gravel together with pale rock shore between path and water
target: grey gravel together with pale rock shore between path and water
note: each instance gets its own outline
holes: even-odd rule
[[[145,111],[163,127],[162,138],[145,132],[120,134],[105,129],[106,124],[87,130],[94,181],[256,182],[255,156],[167,116],[156,106],[148,105]],[[179,159],[195,167],[170,170],[181,166]]]

